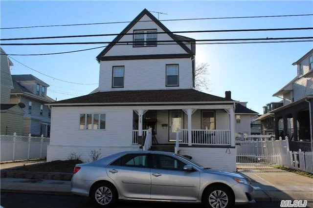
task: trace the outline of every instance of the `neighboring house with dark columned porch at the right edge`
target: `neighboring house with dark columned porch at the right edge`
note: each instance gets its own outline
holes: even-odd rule
[[[313,129],[313,49],[292,65],[297,66],[297,76],[273,94],[284,99],[283,106],[270,111],[275,115],[275,135],[279,136],[276,124],[282,120],[284,137],[310,142]]]

